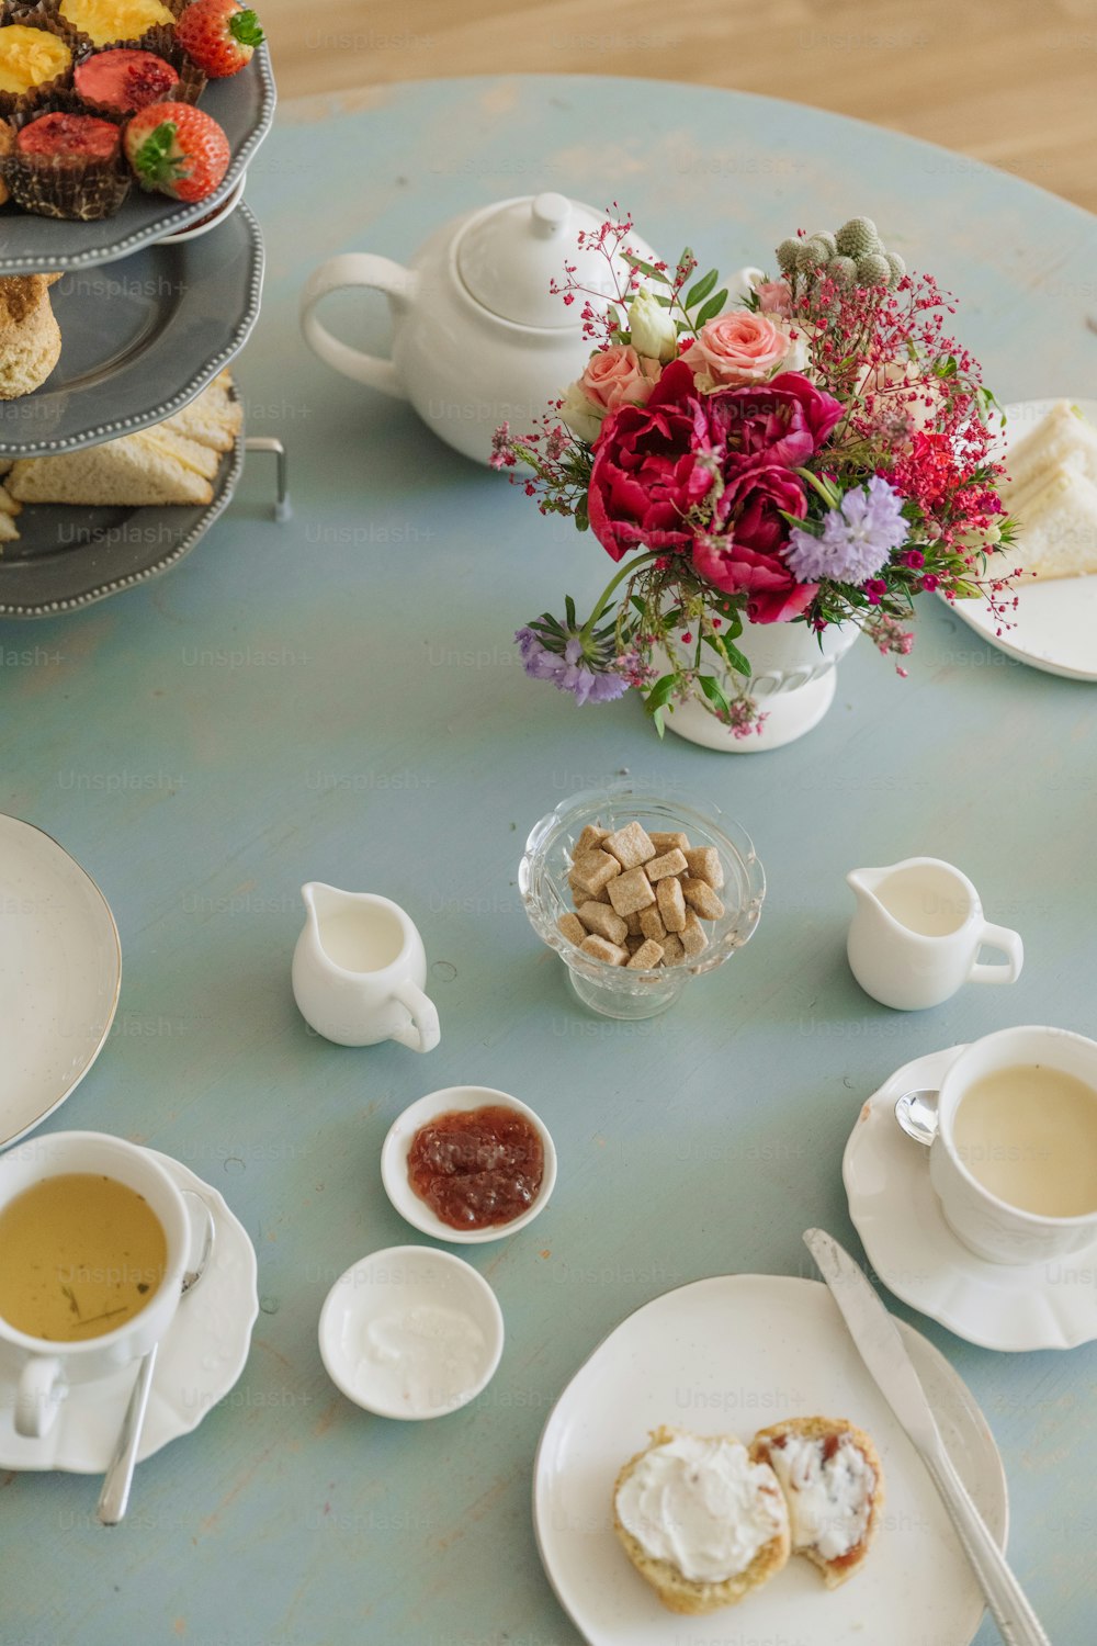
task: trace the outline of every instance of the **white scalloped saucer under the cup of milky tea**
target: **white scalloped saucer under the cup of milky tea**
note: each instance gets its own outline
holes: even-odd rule
[[[896,1297],[980,1348],[1076,1348],[1097,1338],[1097,1244],[1048,1262],[984,1262],[944,1221],[929,1152],[900,1131],[895,1101],[939,1086],[962,1045],[905,1063],[863,1104],[842,1180],[868,1261]]]

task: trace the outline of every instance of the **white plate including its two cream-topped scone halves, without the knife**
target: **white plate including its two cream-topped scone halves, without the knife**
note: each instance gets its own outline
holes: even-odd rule
[[[944,1356],[898,1325],[1005,1546],[993,1437]],[[706,1618],[696,1638],[712,1646],[967,1646],[984,1613],[918,1453],[816,1281],[715,1276],[623,1320],[544,1425],[533,1516],[590,1646],[681,1646],[684,1618]]]

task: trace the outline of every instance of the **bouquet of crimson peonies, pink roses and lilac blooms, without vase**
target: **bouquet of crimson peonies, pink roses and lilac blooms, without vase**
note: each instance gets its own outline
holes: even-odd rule
[[[729,303],[691,250],[645,262],[630,232],[607,219],[582,239],[607,260],[609,305],[574,265],[553,286],[584,301],[582,377],[533,433],[495,435],[493,464],[521,466],[543,514],[622,563],[584,622],[569,597],[518,630],[526,672],[579,703],[633,686],[660,734],[697,698],[747,737],[765,716],[745,622],[852,621],[903,657],[923,591],[1003,611],[1008,579],[985,576],[1010,545],[995,402],[944,334],[937,283],[854,217],[785,240],[775,278]]]

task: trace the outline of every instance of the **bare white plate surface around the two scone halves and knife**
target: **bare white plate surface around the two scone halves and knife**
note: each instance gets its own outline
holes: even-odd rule
[[[918,1332],[898,1327],[952,1462],[1005,1546],[1007,1490],[993,1437],[949,1363]],[[689,1621],[666,1611],[612,1529],[622,1463],[660,1424],[750,1440],[781,1417],[808,1414],[850,1419],[880,1452],[886,1503],[863,1570],[827,1593],[814,1567],[794,1557],[734,1610]],[[967,1646],[984,1611],[926,1470],[817,1281],[715,1276],[622,1322],[544,1425],[533,1516],[549,1582],[590,1646]]]

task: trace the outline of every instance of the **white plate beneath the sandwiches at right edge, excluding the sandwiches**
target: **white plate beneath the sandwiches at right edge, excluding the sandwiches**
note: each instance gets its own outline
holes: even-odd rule
[[[1062,398],[1059,395],[1058,398]],[[1020,438],[1039,423],[1054,400],[1018,400],[1005,407],[1007,441]],[[1097,400],[1072,400],[1072,405],[1097,425]],[[1016,560],[1023,565],[1023,550]],[[1005,565],[1005,561],[1003,561]],[[995,558],[988,561],[995,570]],[[1011,599],[1011,596],[1010,596]],[[957,617],[988,640],[990,645],[1016,657],[1021,663],[1043,668],[1048,675],[1066,675],[1067,680],[1097,680],[1097,576],[1053,578],[1031,583],[1025,578],[1016,586],[1016,611],[1010,611],[1003,627],[985,601],[949,602]],[[1002,629],[1002,634],[997,630]]]

